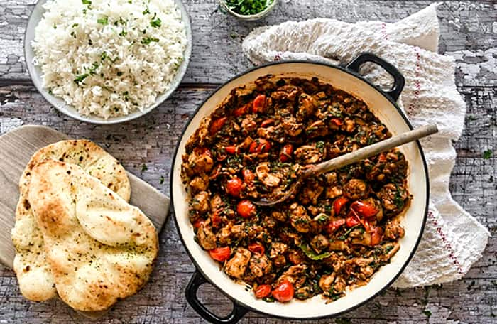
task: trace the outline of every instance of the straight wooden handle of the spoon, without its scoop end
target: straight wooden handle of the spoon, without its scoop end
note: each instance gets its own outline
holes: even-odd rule
[[[421,126],[413,131],[393,136],[390,139],[379,141],[378,143],[359,148],[354,152],[346,153],[337,158],[333,158],[332,160],[316,164],[315,166],[308,168],[305,171],[305,175],[320,175],[321,173],[336,170],[337,168],[348,166],[349,164],[364,160],[365,158],[376,156],[381,152],[388,151],[391,148],[409,143],[410,141],[415,141],[431,134],[435,134],[437,131],[437,125],[435,124]]]

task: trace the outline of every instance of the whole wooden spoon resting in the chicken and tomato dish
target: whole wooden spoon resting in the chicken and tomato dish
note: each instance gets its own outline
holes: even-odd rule
[[[261,200],[255,200],[253,201],[253,203],[261,206],[271,206],[279,204],[280,202],[283,202],[290,198],[291,195],[294,195],[300,188],[300,185],[302,185],[304,180],[309,178],[310,176],[320,175],[337,168],[348,166],[349,164],[364,160],[365,158],[376,156],[377,154],[388,151],[396,146],[400,146],[411,141],[430,136],[431,134],[437,133],[437,131],[438,128],[435,124],[422,126],[413,131],[408,131],[407,133],[393,136],[390,139],[386,139],[384,141],[359,148],[359,150],[357,151],[346,153],[337,158],[332,158],[329,161],[325,161],[319,164],[312,164],[310,166],[307,166],[306,170],[300,174],[299,178],[297,178],[297,180],[293,183],[293,185],[290,186],[290,188],[288,188],[288,190],[281,196],[281,198],[275,200],[261,198]]]

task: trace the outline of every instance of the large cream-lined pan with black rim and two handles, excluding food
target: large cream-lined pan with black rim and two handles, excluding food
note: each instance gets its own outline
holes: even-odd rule
[[[289,303],[266,303],[256,299],[251,291],[246,291],[245,286],[236,284],[219,269],[219,264],[209,257],[194,240],[195,233],[188,217],[187,193],[180,179],[181,156],[185,153],[185,144],[200,121],[211,114],[222,101],[228,97],[230,90],[241,85],[246,85],[263,75],[275,75],[282,77],[318,77],[320,81],[327,82],[334,87],[342,89],[352,95],[364,100],[369,109],[386,124],[393,135],[403,133],[412,129],[408,119],[395,104],[403,88],[403,77],[400,73],[380,58],[364,54],[356,58],[347,68],[358,70],[359,65],[366,61],[373,61],[386,68],[395,78],[395,89],[388,95],[382,92],[370,82],[364,80],[355,72],[333,65],[311,62],[281,62],[253,68],[242,75],[234,77],[219,87],[205,102],[197,109],[192,119],[187,124],[184,133],[175,152],[171,170],[171,200],[175,210],[175,221],[178,232],[182,238],[185,248],[200,273],[196,273],[187,288],[187,300],[193,308],[205,319],[213,323],[235,323],[247,310],[258,311],[280,318],[326,318],[339,315],[352,308],[360,306],[370,300],[378,293],[387,288],[400,275],[415,252],[417,244],[422,236],[425,226],[428,205],[428,175],[425,158],[419,142],[412,142],[400,147],[409,163],[408,188],[413,195],[413,200],[408,207],[405,216],[401,219],[401,225],[405,228],[405,237],[400,239],[400,250],[391,259],[391,263],[382,266],[371,281],[359,288],[354,288],[332,303],[325,303],[321,296],[315,296],[306,301],[293,300]],[[392,70],[393,69],[393,70]],[[395,72],[397,75],[395,75]],[[392,97],[395,99],[392,99]],[[204,308],[196,298],[198,286],[205,279],[210,284],[217,286],[222,293],[234,302],[234,311],[221,322],[217,315]]]

